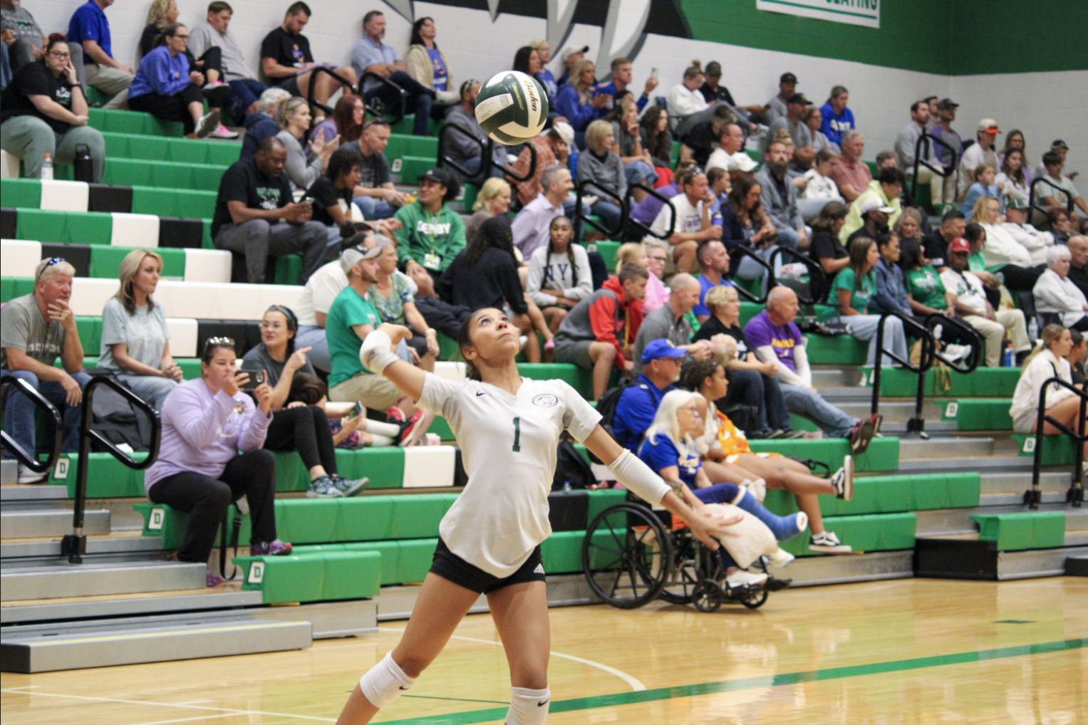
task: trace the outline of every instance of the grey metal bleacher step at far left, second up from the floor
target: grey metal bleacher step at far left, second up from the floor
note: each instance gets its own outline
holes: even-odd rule
[[[88,554],[82,564],[32,557],[3,562],[0,601],[200,589],[206,571],[205,564],[164,561],[161,551]]]

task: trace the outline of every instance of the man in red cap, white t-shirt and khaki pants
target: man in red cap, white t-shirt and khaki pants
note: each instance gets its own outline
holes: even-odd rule
[[[944,289],[952,293],[957,314],[974,327],[986,342],[986,365],[997,367],[1001,358],[1001,340],[1007,332],[1012,337],[1013,350],[1018,357],[1026,355],[1031,349],[1027,339],[1027,325],[1021,310],[994,311],[989,300],[982,280],[967,272],[967,258],[970,255],[970,245],[966,239],[953,239],[948,248],[948,268],[941,272]]]

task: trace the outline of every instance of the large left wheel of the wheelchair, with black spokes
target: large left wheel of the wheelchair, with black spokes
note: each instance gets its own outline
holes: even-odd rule
[[[648,508],[621,503],[605,509],[582,541],[582,571],[590,588],[618,609],[652,601],[669,578],[669,534]]]

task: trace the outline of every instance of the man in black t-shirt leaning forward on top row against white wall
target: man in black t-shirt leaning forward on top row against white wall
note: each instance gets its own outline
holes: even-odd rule
[[[287,8],[283,24],[275,28],[261,42],[261,71],[273,84],[292,96],[309,98],[310,83],[313,83],[313,100],[326,103],[329,97],[336,92],[341,83],[327,73],[305,73],[306,68],[316,65],[332,67],[332,63],[314,63],[310,53],[310,41],[302,35],[302,28],[310,22],[310,8],[305,2],[295,2]],[[350,65],[342,65],[336,74],[350,83],[344,84],[345,92],[354,92],[356,76]],[[317,78],[313,76],[317,75]],[[314,115],[323,115],[316,111]]]

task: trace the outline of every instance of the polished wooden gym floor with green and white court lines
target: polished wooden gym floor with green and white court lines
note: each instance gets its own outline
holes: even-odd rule
[[[404,622],[298,652],[3,674],[4,725],[331,723]],[[500,722],[503,650],[468,617],[375,722]],[[552,610],[549,725],[1088,723],[1088,579],[905,579],[772,593],[758,611]]]

